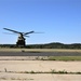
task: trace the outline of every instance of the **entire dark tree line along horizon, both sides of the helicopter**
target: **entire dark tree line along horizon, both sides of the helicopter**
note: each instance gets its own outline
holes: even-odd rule
[[[0,44],[0,48],[23,48],[15,44]],[[64,44],[59,42],[46,43],[46,44],[27,44],[26,49],[81,49],[81,43]]]

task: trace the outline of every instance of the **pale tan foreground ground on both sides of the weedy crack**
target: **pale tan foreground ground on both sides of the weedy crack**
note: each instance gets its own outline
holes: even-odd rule
[[[25,71],[81,71],[81,62],[0,60],[0,81],[81,81],[81,75],[23,73]]]

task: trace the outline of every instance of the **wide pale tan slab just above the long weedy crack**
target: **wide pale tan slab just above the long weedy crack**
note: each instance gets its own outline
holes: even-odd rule
[[[0,60],[0,71],[51,71],[66,70],[81,71],[81,62],[54,62],[54,60]]]

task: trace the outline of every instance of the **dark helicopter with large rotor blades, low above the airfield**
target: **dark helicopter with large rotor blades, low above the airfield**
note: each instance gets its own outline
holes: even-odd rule
[[[29,37],[28,35],[29,33],[33,33],[35,31],[29,31],[29,32],[21,32],[21,31],[16,31],[16,30],[12,30],[12,29],[9,29],[9,28],[3,28],[5,30],[9,30],[9,31],[12,31],[14,33],[17,33],[18,35],[18,39],[17,39],[17,42],[16,42],[16,46],[25,46],[26,45],[26,42],[25,42],[25,37]]]

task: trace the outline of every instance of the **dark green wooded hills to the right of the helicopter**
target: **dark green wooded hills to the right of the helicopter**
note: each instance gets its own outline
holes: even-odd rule
[[[27,49],[81,49],[80,43],[64,44],[64,43],[48,43],[48,44],[31,44]]]

